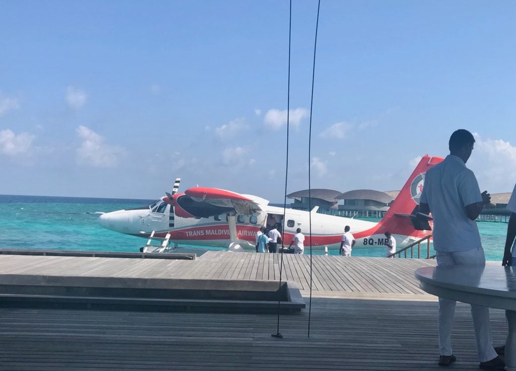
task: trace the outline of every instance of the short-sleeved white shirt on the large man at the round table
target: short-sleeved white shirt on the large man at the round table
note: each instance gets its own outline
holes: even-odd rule
[[[466,206],[482,201],[475,174],[461,158],[448,154],[426,172],[421,203],[433,217],[433,248],[457,252],[481,246],[477,223],[467,217]]]

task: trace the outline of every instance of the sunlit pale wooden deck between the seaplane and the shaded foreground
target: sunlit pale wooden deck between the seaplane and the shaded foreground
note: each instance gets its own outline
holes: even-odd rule
[[[1,274],[268,280],[280,277],[279,254],[206,252],[196,260],[0,255]],[[312,256],[312,290],[426,295],[414,270],[434,260]],[[310,256],[283,255],[282,281],[310,289]]]

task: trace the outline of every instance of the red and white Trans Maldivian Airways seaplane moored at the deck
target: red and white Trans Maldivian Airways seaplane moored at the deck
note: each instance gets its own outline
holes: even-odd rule
[[[426,171],[442,160],[424,156],[378,223],[317,213],[317,207],[304,211],[271,206],[264,198],[218,188],[193,187],[180,193],[178,178],[171,193],[166,192],[149,206],[107,212],[100,215],[99,224],[145,238],[169,235],[175,246],[218,246],[235,252],[255,251],[255,236],[261,226],[279,226],[286,242],[301,228],[305,246],[338,249],[344,227],[349,225],[357,241],[355,249],[384,248],[386,231],[396,239],[399,249],[431,234],[432,221],[419,212],[419,198]]]

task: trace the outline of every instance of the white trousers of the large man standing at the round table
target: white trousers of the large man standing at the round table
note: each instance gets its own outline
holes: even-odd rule
[[[437,252],[438,266],[485,266],[486,256],[482,246],[478,249],[460,252]],[[450,355],[451,329],[455,315],[455,300],[439,298],[439,352],[441,355]],[[491,323],[489,322],[489,307],[471,305],[473,327],[477,341],[477,354],[480,362],[490,361],[497,356],[493,349],[493,337],[491,335]]]

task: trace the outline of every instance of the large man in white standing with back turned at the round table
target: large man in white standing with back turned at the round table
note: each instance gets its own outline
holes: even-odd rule
[[[420,211],[432,213],[433,248],[438,266],[485,266],[476,219],[490,202],[487,191],[480,194],[477,179],[466,167],[475,138],[464,129],[451,134],[450,154],[426,172]],[[456,357],[451,349],[454,300],[439,298],[439,365],[449,366]],[[504,361],[493,348],[489,308],[471,305],[480,368],[503,370]],[[497,349],[500,353],[501,348]]]

